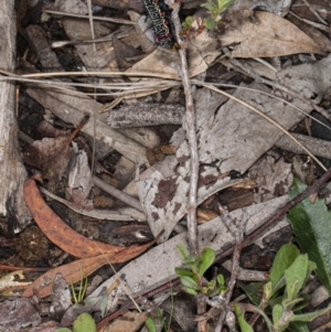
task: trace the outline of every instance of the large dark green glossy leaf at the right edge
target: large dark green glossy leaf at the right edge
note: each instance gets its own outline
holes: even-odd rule
[[[306,189],[299,180],[295,180],[289,191],[290,199]],[[309,197],[292,207],[288,214],[296,240],[302,251],[317,265],[317,276],[331,294],[331,212],[321,200],[310,202]]]

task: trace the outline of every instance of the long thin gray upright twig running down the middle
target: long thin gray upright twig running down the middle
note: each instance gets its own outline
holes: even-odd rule
[[[191,170],[190,170],[190,192],[189,192],[189,203],[188,203],[188,243],[190,251],[194,255],[199,254],[197,248],[197,227],[196,227],[196,191],[197,191],[197,180],[199,180],[199,154],[197,154],[197,142],[195,132],[195,109],[193,104],[191,81],[188,69],[186,50],[184,43],[181,42],[180,38],[180,26],[181,22],[179,19],[180,2],[175,0],[166,0],[168,4],[172,8],[171,18],[175,29],[175,36],[178,43],[180,44],[179,55],[181,60],[181,75],[183,82],[183,88],[185,93],[185,105],[186,105],[186,137],[190,146],[191,154]]]

